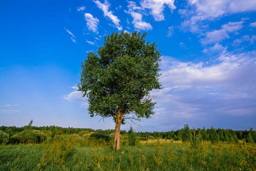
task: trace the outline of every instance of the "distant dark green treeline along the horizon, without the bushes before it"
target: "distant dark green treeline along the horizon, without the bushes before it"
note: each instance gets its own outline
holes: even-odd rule
[[[43,133],[48,136],[54,137],[56,135],[73,135],[77,134],[79,136],[83,136],[85,133],[96,132],[101,135],[110,135],[115,132],[114,129],[91,129],[91,128],[62,128],[56,126],[43,126],[43,127],[34,127],[31,124],[26,125],[24,127],[0,127],[0,134],[2,132],[5,133],[5,136],[10,137],[9,143],[15,143],[16,139],[11,139],[11,137],[19,137],[18,135],[25,136],[27,130],[34,130],[35,136],[38,136],[38,143],[43,141]],[[36,132],[36,130],[38,132]],[[188,127],[188,125],[184,125],[184,128],[177,131],[168,131],[168,132],[136,132],[136,136],[140,137],[140,140],[148,140],[148,139],[166,139],[166,140],[184,140],[184,135],[187,134],[189,136],[192,129]],[[121,135],[127,135],[127,131],[122,130]],[[245,140],[246,142],[256,142],[256,131],[253,128],[250,128],[249,131],[234,131],[232,129],[215,129],[211,127],[210,129],[206,129],[205,127],[200,129],[196,129],[196,135],[200,135],[202,140],[211,140],[214,136],[214,139],[220,141],[238,141]],[[183,137],[182,137],[183,136]],[[13,142],[12,142],[13,141]],[[1,142],[0,142],[1,144]]]

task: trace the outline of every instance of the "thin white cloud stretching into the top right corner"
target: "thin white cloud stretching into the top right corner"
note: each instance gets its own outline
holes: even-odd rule
[[[190,0],[188,9],[178,12],[187,19],[181,24],[183,29],[189,28],[191,32],[202,32],[205,27],[202,21],[215,20],[226,15],[256,11],[256,1],[251,0]]]

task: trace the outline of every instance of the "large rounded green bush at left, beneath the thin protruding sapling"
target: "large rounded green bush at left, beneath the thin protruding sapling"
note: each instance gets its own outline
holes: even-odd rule
[[[42,143],[47,139],[47,135],[39,130],[25,130],[13,136],[15,143]]]

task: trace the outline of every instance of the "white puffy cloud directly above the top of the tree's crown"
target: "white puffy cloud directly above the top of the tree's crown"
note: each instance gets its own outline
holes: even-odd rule
[[[137,7],[135,2],[129,1],[128,8],[129,10],[125,11],[125,13],[128,13],[132,16],[132,23],[135,28],[145,31],[152,30],[153,27],[151,26],[150,23],[142,21],[143,15],[141,14],[141,11],[139,11],[139,13],[135,12],[135,10],[140,10],[141,7]]]

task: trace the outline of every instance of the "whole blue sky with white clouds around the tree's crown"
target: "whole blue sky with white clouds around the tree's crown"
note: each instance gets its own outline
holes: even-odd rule
[[[0,23],[0,125],[114,129],[88,115],[80,63],[105,35],[141,31],[163,89],[136,131],[256,127],[256,1],[2,1]]]

